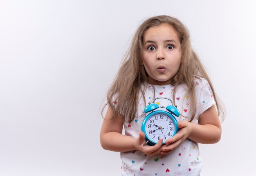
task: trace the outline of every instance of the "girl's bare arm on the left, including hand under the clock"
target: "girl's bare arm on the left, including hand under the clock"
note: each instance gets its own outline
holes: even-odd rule
[[[121,114],[119,115],[122,116]],[[162,139],[154,146],[143,146],[145,143],[143,132],[139,132],[138,138],[123,135],[122,130],[124,123],[117,120],[111,120],[112,117],[113,110],[108,108],[100,132],[100,141],[103,149],[115,152],[141,150],[145,154],[154,155],[162,146]],[[122,118],[124,118],[124,116],[122,116]]]

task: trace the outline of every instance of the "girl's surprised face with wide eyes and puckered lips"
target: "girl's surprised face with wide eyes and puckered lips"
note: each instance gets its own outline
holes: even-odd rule
[[[181,62],[180,40],[173,26],[164,23],[144,33],[142,60],[149,84],[171,84]]]

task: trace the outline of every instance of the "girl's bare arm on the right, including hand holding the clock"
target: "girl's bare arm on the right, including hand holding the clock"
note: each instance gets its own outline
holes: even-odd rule
[[[221,124],[214,106],[211,106],[199,116],[198,124],[188,121],[178,123],[179,131],[173,138],[166,141],[161,154],[170,153],[186,138],[204,144],[217,143],[221,137]]]

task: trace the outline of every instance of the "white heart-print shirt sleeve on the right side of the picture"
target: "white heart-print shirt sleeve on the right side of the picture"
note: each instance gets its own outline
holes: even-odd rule
[[[213,97],[211,86],[206,79],[202,78],[201,81],[196,81],[196,86],[198,86],[198,112],[200,115],[205,110],[216,104],[216,102]]]

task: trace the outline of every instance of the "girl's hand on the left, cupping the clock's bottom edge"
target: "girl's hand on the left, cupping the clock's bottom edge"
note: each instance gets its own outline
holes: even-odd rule
[[[161,152],[159,148],[162,146],[162,142],[163,142],[163,139],[160,139],[154,146],[149,146],[149,145],[143,146],[144,143],[146,143],[145,134],[144,132],[140,131],[139,137],[137,137],[137,139],[135,140],[135,147],[137,148],[137,150],[140,150],[144,154],[153,156]]]

